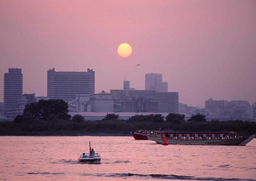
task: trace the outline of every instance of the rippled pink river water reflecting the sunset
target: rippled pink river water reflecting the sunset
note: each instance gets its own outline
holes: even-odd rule
[[[77,162],[89,141],[99,165]],[[163,146],[131,136],[3,136],[0,146],[0,180],[256,180],[256,138]]]

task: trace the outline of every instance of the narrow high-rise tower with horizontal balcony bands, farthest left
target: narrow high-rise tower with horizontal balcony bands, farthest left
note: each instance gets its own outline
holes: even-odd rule
[[[18,99],[22,97],[22,80],[21,69],[9,68],[8,73],[4,74],[3,101],[5,115],[7,115],[8,109],[18,107]]]

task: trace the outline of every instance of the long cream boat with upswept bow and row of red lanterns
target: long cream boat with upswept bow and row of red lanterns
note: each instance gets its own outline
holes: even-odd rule
[[[181,145],[239,145],[249,143],[256,134],[249,137],[238,136],[235,132],[174,132],[174,131],[151,131],[147,134],[148,140],[158,144],[163,143],[166,136],[168,144]]]

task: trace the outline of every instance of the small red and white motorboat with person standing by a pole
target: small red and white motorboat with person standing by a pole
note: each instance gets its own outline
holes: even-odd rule
[[[101,163],[101,155],[99,153],[94,153],[93,149],[91,149],[90,142],[90,153],[89,154],[81,154],[78,158],[79,163],[90,163],[90,164],[100,164]]]

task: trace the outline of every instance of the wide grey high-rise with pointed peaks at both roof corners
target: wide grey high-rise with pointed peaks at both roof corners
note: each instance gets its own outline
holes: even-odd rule
[[[70,102],[76,99],[76,94],[94,95],[95,72],[47,71],[47,96],[51,99],[63,99]]]

